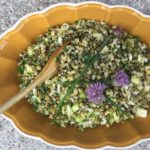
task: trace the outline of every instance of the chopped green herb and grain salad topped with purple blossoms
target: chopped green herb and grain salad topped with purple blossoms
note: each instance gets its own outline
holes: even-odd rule
[[[20,54],[21,89],[67,41],[55,59],[58,72],[27,95],[34,111],[61,127],[81,130],[147,117],[150,49],[139,37],[103,21],[80,19],[40,35]]]

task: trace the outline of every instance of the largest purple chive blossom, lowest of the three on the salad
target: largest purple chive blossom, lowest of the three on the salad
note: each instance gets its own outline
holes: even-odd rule
[[[86,94],[87,94],[88,100],[93,103],[102,102],[105,99],[105,97],[103,95],[105,88],[106,88],[106,85],[101,82],[91,84],[86,89]]]

